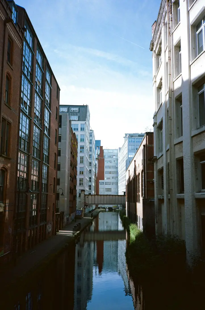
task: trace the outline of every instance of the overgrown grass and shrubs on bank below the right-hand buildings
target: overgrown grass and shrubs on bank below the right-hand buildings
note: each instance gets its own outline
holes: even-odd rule
[[[177,237],[157,237],[148,240],[136,224],[120,211],[122,224],[128,232],[126,259],[130,275],[141,280],[154,276],[155,280],[177,279],[186,271],[185,242]]]

